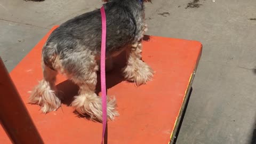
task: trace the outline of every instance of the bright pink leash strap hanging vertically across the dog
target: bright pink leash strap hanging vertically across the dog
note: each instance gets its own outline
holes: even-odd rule
[[[101,36],[101,55],[100,55],[100,79],[101,79],[101,100],[102,100],[102,139],[103,144],[104,135],[107,127],[107,90],[106,90],[106,72],[105,72],[105,58],[106,58],[106,35],[107,35],[107,20],[104,6],[100,9],[102,21],[102,36]]]

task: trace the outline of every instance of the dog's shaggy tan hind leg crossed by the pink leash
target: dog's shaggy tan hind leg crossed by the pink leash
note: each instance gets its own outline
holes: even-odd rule
[[[79,86],[78,95],[71,103],[76,111],[81,115],[89,115],[91,120],[102,121],[102,105],[101,98],[95,93],[97,84],[98,65],[94,58],[88,60],[90,62],[84,63],[83,68],[78,70],[71,79]],[[115,99],[108,99],[107,113],[108,119],[113,120],[118,116],[115,111]]]

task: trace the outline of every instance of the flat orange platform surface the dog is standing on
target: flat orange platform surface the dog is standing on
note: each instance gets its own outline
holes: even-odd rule
[[[45,143],[100,143],[102,124],[73,113],[69,103],[77,87],[64,77],[57,78],[57,85],[67,99],[61,108],[44,115],[39,106],[28,104],[28,91],[42,79],[41,49],[51,31],[11,71],[11,78]],[[115,121],[108,122],[108,143],[172,141],[201,51],[202,45],[197,41],[150,36],[143,41],[142,55],[156,71],[153,81],[135,87],[117,73],[107,74],[108,95],[115,95],[120,114]],[[0,143],[11,143],[2,127]]]

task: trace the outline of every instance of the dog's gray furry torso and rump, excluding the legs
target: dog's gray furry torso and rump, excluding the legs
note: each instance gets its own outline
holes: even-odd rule
[[[107,17],[107,55],[122,51],[143,36],[144,7],[138,0],[111,0],[104,4]],[[100,10],[84,13],[55,29],[43,48],[43,61],[52,68],[59,56],[68,73],[90,65],[91,55],[100,55]]]

